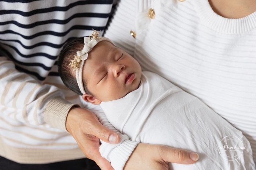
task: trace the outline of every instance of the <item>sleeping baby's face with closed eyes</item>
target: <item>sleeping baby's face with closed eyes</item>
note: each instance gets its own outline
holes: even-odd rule
[[[88,90],[100,101],[120,99],[136,90],[141,74],[138,61],[108,41],[88,53],[83,68]]]

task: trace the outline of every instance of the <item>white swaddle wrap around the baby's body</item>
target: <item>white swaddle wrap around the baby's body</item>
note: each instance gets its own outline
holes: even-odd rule
[[[100,106],[110,123],[134,141],[182,148],[200,155],[195,164],[170,163],[169,169],[255,169],[252,149],[242,132],[198,98],[155,73],[142,72],[137,90]]]

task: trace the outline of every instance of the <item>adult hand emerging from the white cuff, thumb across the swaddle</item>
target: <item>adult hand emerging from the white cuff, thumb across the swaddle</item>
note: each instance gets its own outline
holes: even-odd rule
[[[163,145],[140,143],[132,152],[124,170],[169,170],[168,162],[193,164],[199,155]]]

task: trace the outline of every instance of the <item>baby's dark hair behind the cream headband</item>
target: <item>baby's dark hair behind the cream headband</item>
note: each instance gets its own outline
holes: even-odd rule
[[[79,95],[83,95],[78,87],[76,77],[74,76],[76,73],[70,67],[69,63],[76,55],[77,51],[81,51],[84,47],[84,37],[74,38],[63,46],[61,52],[59,53],[58,60],[58,72],[65,86],[67,86],[70,90],[76,92]],[[86,86],[85,81],[84,90],[87,94],[91,94]]]

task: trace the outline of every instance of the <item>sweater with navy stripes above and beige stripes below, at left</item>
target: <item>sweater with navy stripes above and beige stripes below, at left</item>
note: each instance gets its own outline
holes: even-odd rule
[[[92,29],[103,33],[112,3],[0,1],[1,156],[33,164],[85,157],[65,127],[70,107],[84,104],[63,85],[56,61],[70,38],[90,35]],[[117,163],[121,167],[137,144],[122,135],[122,141],[125,139],[128,144],[124,141],[119,148],[126,144],[130,149]]]

